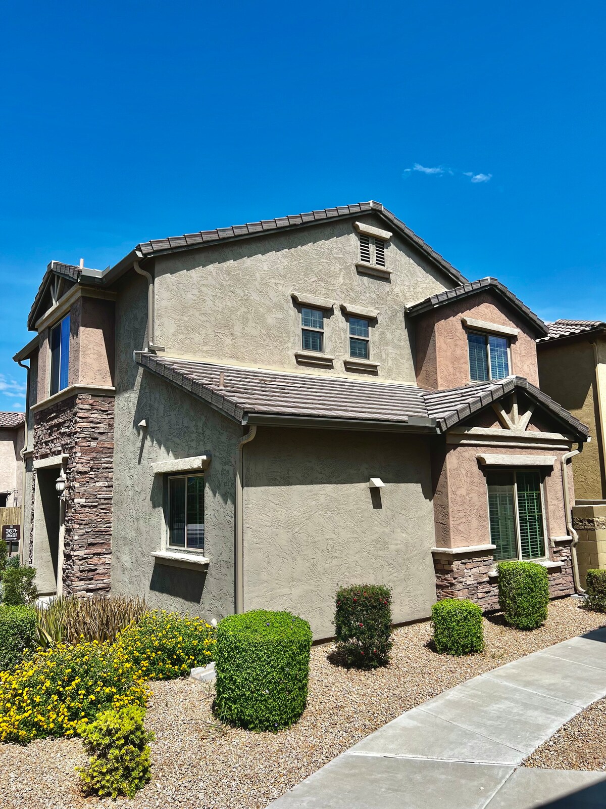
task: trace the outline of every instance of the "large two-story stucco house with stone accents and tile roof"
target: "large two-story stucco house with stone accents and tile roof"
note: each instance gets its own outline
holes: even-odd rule
[[[396,622],[436,591],[496,607],[499,559],[573,591],[587,427],[537,387],[545,324],[380,203],[52,262],[28,327],[43,592],[284,608],[329,637],[342,583],[392,587]]]

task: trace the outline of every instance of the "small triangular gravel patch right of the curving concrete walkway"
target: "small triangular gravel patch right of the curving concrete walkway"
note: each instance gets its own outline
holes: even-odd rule
[[[606,700],[598,700],[541,744],[524,767],[606,770]]]

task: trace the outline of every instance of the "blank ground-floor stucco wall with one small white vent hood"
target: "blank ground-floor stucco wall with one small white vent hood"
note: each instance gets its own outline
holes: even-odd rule
[[[287,609],[331,637],[340,584],[386,584],[393,621],[436,601],[427,440],[259,428],[244,448],[244,606]],[[372,492],[370,477],[385,488]]]

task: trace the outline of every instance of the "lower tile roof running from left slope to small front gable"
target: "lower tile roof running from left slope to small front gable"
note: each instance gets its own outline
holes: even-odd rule
[[[523,390],[579,440],[589,430],[526,379],[510,376],[447,391],[335,376],[263,371],[137,352],[155,375],[241,424],[335,426],[444,433],[493,401]]]

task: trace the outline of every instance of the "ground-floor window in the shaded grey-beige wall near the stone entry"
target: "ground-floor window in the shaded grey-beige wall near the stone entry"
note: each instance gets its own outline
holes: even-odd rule
[[[204,550],[204,475],[168,479],[168,544]]]

